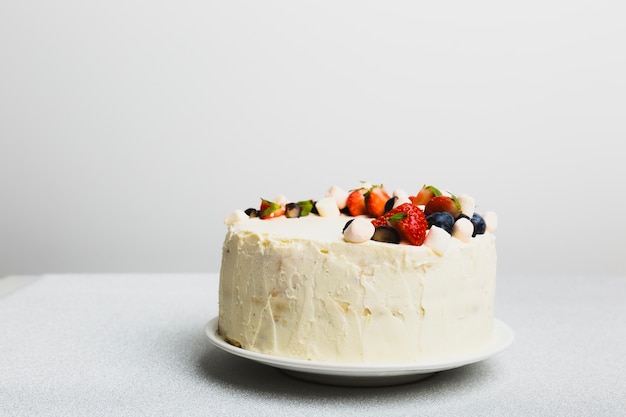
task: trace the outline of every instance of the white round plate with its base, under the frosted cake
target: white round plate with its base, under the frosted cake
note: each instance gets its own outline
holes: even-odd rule
[[[514,338],[513,330],[504,322],[494,320],[492,340],[478,351],[451,359],[399,363],[345,363],[291,359],[241,349],[224,341],[217,332],[215,317],[204,327],[209,341],[218,348],[242,358],[270,365],[288,375],[307,381],[344,386],[383,386],[418,381],[435,372],[476,363],[506,349]]]

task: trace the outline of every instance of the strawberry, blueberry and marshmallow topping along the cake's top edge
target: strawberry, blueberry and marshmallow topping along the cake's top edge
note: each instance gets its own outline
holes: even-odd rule
[[[337,230],[330,235],[339,235],[347,243],[424,245],[438,255],[446,252],[451,239],[467,243],[477,235],[493,233],[497,226],[495,212],[476,212],[475,199],[468,194],[455,195],[432,185],[414,194],[402,189],[389,192],[383,185],[366,182],[349,191],[333,185],[317,200],[261,198],[259,206],[235,210],[225,223],[233,227],[241,220],[255,219],[255,229],[288,234],[294,221],[309,216],[332,219]],[[318,234],[324,239],[328,231],[320,228]]]

